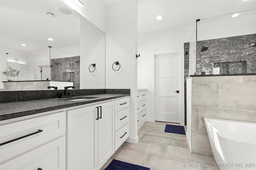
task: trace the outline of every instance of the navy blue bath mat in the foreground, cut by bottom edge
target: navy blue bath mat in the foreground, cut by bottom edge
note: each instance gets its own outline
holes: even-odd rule
[[[150,170],[150,168],[113,159],[105,170]]]

